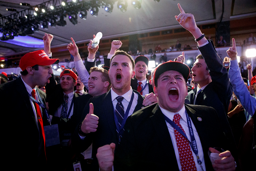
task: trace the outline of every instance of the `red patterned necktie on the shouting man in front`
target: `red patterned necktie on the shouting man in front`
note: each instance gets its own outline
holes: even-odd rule
[[[179,113],[176,113],[174,115],[173,122],[178,127],[180,127],[180,129],[185,133],[181,124],[179,123],[180,119],[181,119],[181,115],[179,115]],[[195,164],[192,150],[191,150],[188,140],[184,136],[182,136],[182,134],[179,133],[179,131],[177,131],[175,128],[174,128],[174,133],[175,133],[176,143],[177,143],[177,147],[178,147],[178,151],[179,151],[181,170],[182,171],[196,170],[196,164]]]

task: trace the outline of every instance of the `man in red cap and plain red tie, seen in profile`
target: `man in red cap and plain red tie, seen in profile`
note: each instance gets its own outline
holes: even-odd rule
[[[36,86],[46,86],[53,73],[43,50],[20,59],[21,76],[0,85],[0,104],[9,111],[1,113],[3,122],[3,163],[11,170],[43,170],[46,164],[44,126],[49,124],[46,94]],[[5,125],[5,126],[4,126]]]

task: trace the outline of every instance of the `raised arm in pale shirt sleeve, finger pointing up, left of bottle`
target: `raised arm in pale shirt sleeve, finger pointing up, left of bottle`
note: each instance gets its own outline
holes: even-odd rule
[[[71,55],[74,56],[74,64],[75,64],[75,69],[77,70],[77,73],[81,79],[81,82],[84,83],[85,88],[88,88],[88,79],[89,79],[89,73],[86,70],[84,64],[82,63],[82,59],[80,57],[80,54],[78,52],[78,47],[75,44],[74,39],[71,37],[72,43],[68,44],[68,50]]]

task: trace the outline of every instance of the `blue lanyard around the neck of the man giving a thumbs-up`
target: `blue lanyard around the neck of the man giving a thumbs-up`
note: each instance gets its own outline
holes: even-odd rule
[[[130,100],[130,102],[129,102],[129,105],[128,105],[126,111],[125,111],[124,119],[123,119],[123,121],[122,121],[121,127],[119,127],[119,123],[118,123],[118,120],[117,120],[117,116],[115,115],[114,105],[113,105],[113,103],[112,103],[113,111],[114,111],[115,126],[116,126],[116,128],[117,128],[118,137],[119,137],[119,142],[120,142],[120,140],[121,140],[122,134],[124,133],[124,130],[123,130],[123,129],[124,129],[124,124],[125,124],[125,122],[126,122],[126,120],[127,120],[129,111],[130,111],[130,109],[131,109],[133,99],[134,99],[134,92],[132,91],[132,97],[131,97],[131,100]]]

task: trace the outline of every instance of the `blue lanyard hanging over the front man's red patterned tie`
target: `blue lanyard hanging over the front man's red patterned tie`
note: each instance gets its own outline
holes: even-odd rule
[[[167,116],[165,116],[165,120],[166,122],[168,122],[169,124],[171,124],[172,127],[174,127],[177,131],[179,131],[179,133],[181,133],[187,140],[188,140],[188,137],[186,136],[186,134],[181,130],[181,128],[176,125],[171,119],[169,119]],[[196,140],[195,140],[195,136],[194,136],[194,132],[193,132],[193,128],[192,128],[192,124],[191,124],[191,120],[188,116],[188,113],[186,111],[186,118],[187,118],[187,123],[188,123],[188,128],[189,128],[189,134],[190,134],[190,138],[191,138],[191,141],[189,141],[189,144],[190,146],[192,147],[192,150],[193,152],[196,154],[196,158],[197,158],[197,163],[200,165],[200,167],[202,168],[203,170],[203,167],[202,167],[202,161],[200,160],[199,158],[199,155],[198,155],[198,148],[196,146]]]

